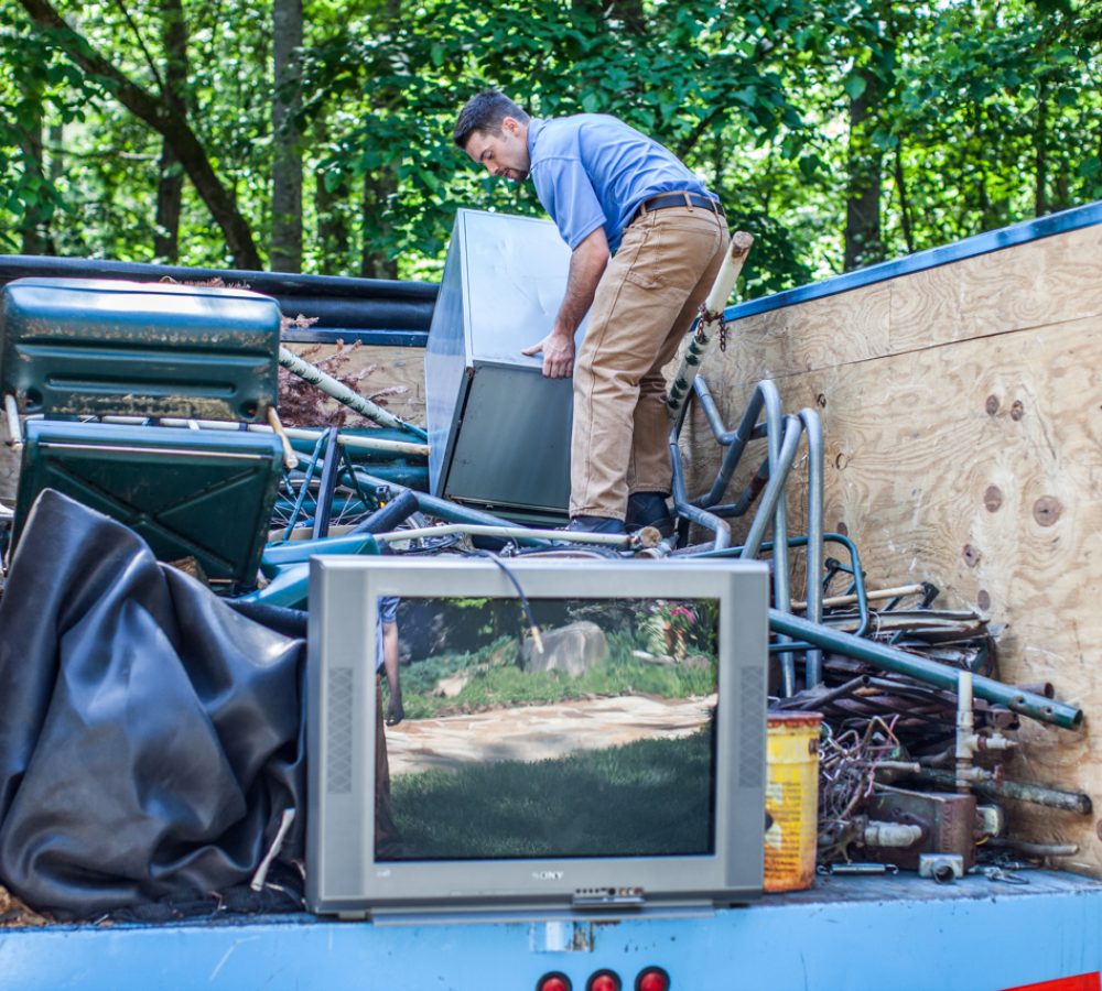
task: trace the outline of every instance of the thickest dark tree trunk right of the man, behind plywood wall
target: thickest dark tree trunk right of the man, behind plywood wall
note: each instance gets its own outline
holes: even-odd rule
[[[875,119],[872,108],[880,91],[877,76],[857,69],[865,88],[850,100],[849,182],[845,197],[845,270],[884,259],[880,237],[880,192],[884,155],[869,140]]]

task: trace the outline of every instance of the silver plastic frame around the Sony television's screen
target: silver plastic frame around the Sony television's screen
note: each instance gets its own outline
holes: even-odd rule
[[[765,825],[767,567],[732,559],[547,558],[512,559],[507,566],[529,599],[719,600],[714,852],[376,862],[374,603],[380,596],[516,598],[516,590],[485,559],[322,556],[310,565],[310,910],[359,918],[462,908],[570,910],[594,891],[641,890],[641,903],[634,904],[644,906],[732,904],[758,895]],[[616,907],[614,899],[609,908]]]

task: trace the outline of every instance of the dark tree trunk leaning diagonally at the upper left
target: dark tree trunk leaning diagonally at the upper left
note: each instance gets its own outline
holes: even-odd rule
[[[248,221],[238,210],[234,194],[215,173],[206,149],[188,124],[186,115],[180,113],[166,100],[158,99],[111,65],[84,35],[69,28],[47,0],[19,2],[35,24],[51,33],[53,41],[76,65],[106,79],[115,98],[164,138],[222,229],[234,263],[240,269],[260,269],[260,254]]]

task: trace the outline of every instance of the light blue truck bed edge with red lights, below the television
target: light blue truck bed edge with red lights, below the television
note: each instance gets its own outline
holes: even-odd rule
[[[820,882],[743,908],[674,918],[391,924],[278,917],[237,925],[54,927],[0,935],[0,987],[519,991],[548,971],[575,991],[647,966],[672,991],[1002,991],[1099,970],[1102,884],[1023,873]]]

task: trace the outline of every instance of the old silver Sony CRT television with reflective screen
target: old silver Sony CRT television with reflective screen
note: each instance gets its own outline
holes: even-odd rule
[[[767,577],[738,560],[313,558],[311,911],[758,894]]]

